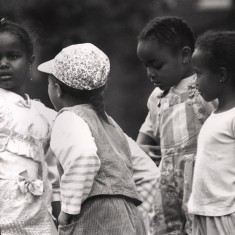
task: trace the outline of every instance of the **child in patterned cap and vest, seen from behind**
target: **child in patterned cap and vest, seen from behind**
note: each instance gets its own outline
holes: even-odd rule
[[[61,176],[59,234],[146,234],[127,138],[104,111],[108,57],[77,44],[38,69],[49,73],[49,96],[61,110],[50,142]]]

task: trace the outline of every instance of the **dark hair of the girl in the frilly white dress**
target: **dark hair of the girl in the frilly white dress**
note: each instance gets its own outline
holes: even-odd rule
[[[0,33],[2,32],[15,34],[24,45],[27,57],[30,58],[33,55],[33,39],[23,26],[3,18],[0,20]]]

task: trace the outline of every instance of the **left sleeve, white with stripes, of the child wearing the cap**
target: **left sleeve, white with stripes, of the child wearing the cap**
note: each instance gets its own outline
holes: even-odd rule
[[[72,112],[61,113],[53,126],[51,149],[63,169],[61,210],[79,214],[100,169],[97,147],[86,122]]]

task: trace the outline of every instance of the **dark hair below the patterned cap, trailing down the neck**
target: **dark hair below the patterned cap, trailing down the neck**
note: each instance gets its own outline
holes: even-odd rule
[[[67,86],[56,77],[54,77],[54,79],[60,85],[60,88],[64,93],[68,93],[71,96],[78,98],[79,100],[81,100],[81,102],[92,104],[96,113],[100,115],[105,122],[110,124],[105,112],[104,105],[104,91],[106,89],[106,84],[93,90],[78,90]]]

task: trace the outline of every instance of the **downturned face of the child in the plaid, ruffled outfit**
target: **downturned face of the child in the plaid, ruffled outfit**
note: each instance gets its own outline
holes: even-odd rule
[[[161,90],[168,90],[184,78],[180,53],[173,54],[170,48],[159,44],[157,39],[139,41],[137,54],[151,82]]]

